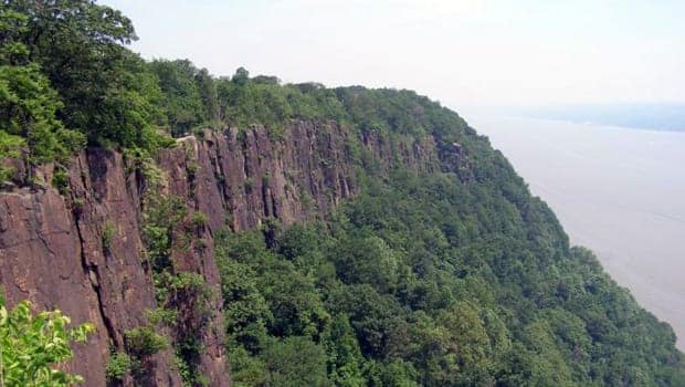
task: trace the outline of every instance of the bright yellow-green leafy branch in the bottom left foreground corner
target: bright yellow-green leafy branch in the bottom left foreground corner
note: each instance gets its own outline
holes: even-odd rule
[[[85,342],[95,326],[70,324],[60,311],[33,315],[27,301],[8,310],[0,296],[0,385],[46,387],[83,381],[56,367],[72,358],[70,344]]]

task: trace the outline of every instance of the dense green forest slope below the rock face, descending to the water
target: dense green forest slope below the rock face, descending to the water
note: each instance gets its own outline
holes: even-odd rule
[[[467,170],[449,147],[433,174],[369,164],[325,223],[215,239],[235,384],[682,385],[673,331],[453,130]]]

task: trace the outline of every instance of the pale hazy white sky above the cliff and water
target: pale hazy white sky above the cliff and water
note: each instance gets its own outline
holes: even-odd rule
[[[147,59],[450,106],[685,102],[683,0],[106,0]]]

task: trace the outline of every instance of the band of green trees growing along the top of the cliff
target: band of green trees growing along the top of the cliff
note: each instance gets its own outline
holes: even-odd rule
[[[145,63],[125,48],[137,39],[130,20],[91,1],[49,8],[9,1],[2,20],[0,111],[8,114],[0,130],[25,140],[35,163],[64,159],[86,139],[151,155],[172,145],[161,128],[180,136],[201,127],[262,124],[280,140],[294,119],[417,136],[465,127],[409,91],[282,85],[275,76],[250,77],[243,67],[233,77],[215,79],[188,60]],[[19,145],[13,142],[12,151]]]

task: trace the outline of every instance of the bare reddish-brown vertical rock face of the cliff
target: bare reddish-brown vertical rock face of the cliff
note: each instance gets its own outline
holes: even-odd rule
[[[202,138],[182,138],[177,147],[161,151],[157,164],[166,184],[161,191],[147,194],[178,197],[188,213],[207,215],[191,248],[175,250],[175,269],[201,274],[220,294],[213,234],[221,228],[242,230],[270,218],[289,224],[320,217],[359,191],[358,165],[439,168],[431,138],[357,136],[334,123],[298,122],[282,139],[270,138],[263,127],[208,130]],[[61,308],[74,323],[96,325],[96,334],[77,345],[75,360],[66,365],[88,386],[105,385],[112,348],[122,349],[124,333],[147,324],[148,311],[157,307],[150,273],[141,262],[147,185],[128,164],[118,153],[88,149],[71,163],[64,195],[49,187],[0,192],[0,283],[8,301],[29,299],[39,310]],[[50,168],[40,172],[51,179]],[[209,325],[200,337],[204,351],[198,359],[199,372],[212,386],[230,385],[220,299],[211,301]],[[151,372],[145,384],[181,385],[171,351],[148,363]]]

